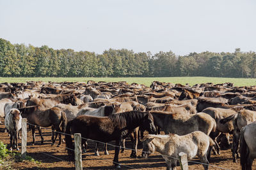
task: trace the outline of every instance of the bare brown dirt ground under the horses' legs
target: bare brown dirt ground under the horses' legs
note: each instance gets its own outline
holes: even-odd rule
[[[4,133],[4,119],[1,118],[2,124],[0,124],[0,141],[5,144],[10,143],[10,137],[7,133]],[[36,131],[37,132],[37,131]],[[62,144],[59,148],[57,145],[51,146],[51,129],[43,129],[43,135],[45,143],[40,145],[40,136],[36,133],[36,144],[31,146],[31,131],[28,131],[28,155],[33,159],[41,162],[15,162],[12,164],[13,169],[75,169],[73,162],[68,162],[67,152],[65,150],[65,144]],[[21,140],[19,139],[19,143]],[[58,141],[57,141],[58,142]],[[131,148],[129,140],[126,142],[127,148]],[[114,145],[112,142],[111,144]],[[95,143],[88,142],[88,152],[83,153],[83,169],[113,169],[114,148],[108,146],[109,155],[104,155],[103,145],[100,145],[100,156],[94,155]],[[21,148],[21,146],[20,146]],[[141,155],[141,145],[138,146],[138,155]],[[122,164],[122,169],[166,169],[164,159],[157,153],[150,155],[148,159],[131,159],[129,155],[130,150],[125,150],[124,153],[119,154],[119,161]],[[198,159],[194,159],[197,161]],[[229,150],[221,150],[221,155],[211,156],[211,166],[209,169],[241,169],[238,163],[232,162],[232,153]],[[213,167],[214,166],[214,167]],[[216,167],[218,166],[218,167]],[[0,167],[3,169],[3,167]],[[180,167],[177,167],[180,169]],[[189,169],[204,169],[202,165],[189,162]],[[253,169],[256,169],[256,161],[253,162]]]

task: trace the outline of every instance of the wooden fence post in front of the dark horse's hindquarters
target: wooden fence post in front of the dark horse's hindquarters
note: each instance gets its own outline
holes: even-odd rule
[[[75,160],[76,160],[76,170],[83,170],[82,164],[82,147],[81,147],[81,134],[74,134],[75,138]]]

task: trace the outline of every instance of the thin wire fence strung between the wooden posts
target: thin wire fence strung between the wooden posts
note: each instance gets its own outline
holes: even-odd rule
[[[41,127],[41,126],[38,126],[38,125],[35,125],[35,124],[29,124],[28,122],[27,122],[27,124],[28,125],[33,125],[33,126],[35,126],[35,127],[39,127],[40,129],[47,129],[47,130],[49,130],[49,131],[51,131],[51,132],[53,132],[53,133],[60,133],[60,134],[63,134],[63,135],[69,135],[69,136],[72,136],[72,134],[66,134],[65,132],[57,132],[57,131],[52,131],[52,130],[50,130],[51,128],[47,128],[47,127]],[[145,152],[145,151],[141,151],[141,150],[135,150],[135,149],[132,149],[132,148],[125,148],[125,147],[122,147],[122,146],[116,146],[116,145],[113,145],[113,144],[110,144],[110,143],[104,143],[104,142],[102,142],[102,141],[97,141],[97,140],[93,140],[93,139],[88,139],[88,138],[83,138],[82,137],[82,139],[85,139],[85,140],[88,140],[88,141],[93,141],[93,142],[96,142],[96,143],[102,143],[102,144],[104,144],[104,145],[109,145],[109,146],[113,146],[113,147],[118,147],[118,148],[124,148],[125,150],[131,150],[131,151],[136,151],[136,152],[141,152],[141,153],[150,153],[150,152]],[[60,147],[61,148],[65,148],[65,150],[72,150],[72,151],[75,151],[74,149],[72,149],[72,148],[67,148],[66,146],[61,146],[60,145]],[[53,157],[53,158],[55,158],[55,159],[58,159],[58,160],[61,160],[61,161],[67,161],[67,160],[63,160],[63,159],[60,159],[60,158],[58,158],[58,157],[55,157],[55,156],[53,156],[53,155],[49,155],[48,153],[45,153],[45,152],[42,152],[44,155],[47,155],[47,156],[49,156],[49,157]],[[172,157],[172,156],[170,156],[170,155],[163,155],[163,154],[160,154],[160,153],[150,153],[151,155],[161,155],[162,157],[168,157],[168,158],[170,158],[170,159],[175,159],[175,160],[179,160],[177,157]],[[106,159],[106,161],[107,162],[113,162],[112,160],[107,160]],[[202,162],[196,162],[196,161],[192,161],[192,160],[187,160],[187,162],[191,162],[191,163],[195,163],[195,164],[202,164],[202,165],[207,165],[207,166],[211,166],[211,167],[216,167],[216,168],[219,168],[219,169],[227,169],[227,168],[224,168],[224,167],[219,167],[219,166],[214,166],[214,165],[211,165],[211,164],[204,164],[204,163],[202,163]],[[115,164],[119,164],[120,166],[123,166],[123,167],[127,167],[127,168],[129,168],[129,169],[137,169],[136,167],[132,167],[132,166],[127,166],[127,165],[124,165],[124,164],[120,164],[120,163],[118,163],[118,162],[113,162],[113,163],[115,163]],[[186,163],[186,162],[185,162]],[[85,167],[83,167],[83,169],[87,169],[87,168],[85,168]]]

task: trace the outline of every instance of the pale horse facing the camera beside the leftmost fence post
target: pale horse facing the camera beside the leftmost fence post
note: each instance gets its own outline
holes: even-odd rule
[[[4,124],[6,129],[10,132],[10,150],[18,148],[18,132],[21,129],[21,120],[20,111],[17,109],[11,109],[9,113],[6,114]]]

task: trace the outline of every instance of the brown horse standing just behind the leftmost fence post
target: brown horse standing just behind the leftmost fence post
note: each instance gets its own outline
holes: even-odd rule
[[[59,144],[61,145],[61,134],[58,132],[65,132],[67,125],[67,117],[64,111],[60,108],[53,107],[51,109],[42,109],[39,106],[28,106],[25,108],[20,108],[20,112],[22,112],[22,117],[28,119],[28,123],[31,125],[32,129],[32,137],[33,142],[32,145],[35,145],[35,126],[38,127],[52,127],[52,145],[54,145],[56,138],[59,135]],[[60,129],[62,127],[62,131]],[[57,133],[54,138],[54,129],[56,129]],[[41,136],[41,144],[44,143],[44,138],[42,136],[42,132],[40,128],[38,128],[39,134]]]

